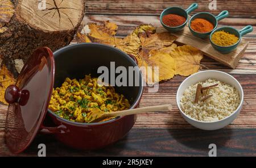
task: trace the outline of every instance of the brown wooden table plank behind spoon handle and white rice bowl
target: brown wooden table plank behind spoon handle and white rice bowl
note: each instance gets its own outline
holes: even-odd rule
[[[244,103],[240,115],[227,128],[256,128],[256,74],[234,74],[244,91]],[[140,107],[170,103],[171,112],[145,113],[138,115],[134,128],[192,128],[180,115],[176,106],[176,91],[185,77],[176,76],[160,83],[157,93],[148,93],[145,89]],[[0,106],[0,128],[5,127],[6,106]]]

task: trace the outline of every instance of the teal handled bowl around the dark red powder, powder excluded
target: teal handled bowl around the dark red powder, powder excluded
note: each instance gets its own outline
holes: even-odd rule
[[[160,22],[162,24],[162,26],[167,30],[167,31],[170,31],[170,32],[177,32],[177,31],[180,31],[181,29],[183,29],[185,27],[185,25],[187,24],[188,22],[188,14],[190,12],[192,12],[193,10],[197,9],[198,5],[197,3],[192,3],[191,6],[188,7],[188,9],[184,10],[180,7],[168,7],[167,9],[165,9],[162,14],[160,15]],[[180,16],[183,16],[186,21],[181,24],[180,26],[177,26],[177,27],[170,27],[170,26],[167,26],[166,24],[163,23],[163,16],[164,15],[168,15],[168,14],[176,14],[176,15],[180,15]]]

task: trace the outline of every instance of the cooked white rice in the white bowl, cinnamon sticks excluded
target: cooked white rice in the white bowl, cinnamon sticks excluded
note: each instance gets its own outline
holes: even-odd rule
[[[204,102],[195,102],[197,85],[201,84],[203,87],[212,86],[218,83],[216,89],[208,90],[207,95],[213,95]],[[236,111],[240,104],[240,96],[238,90],[226,83],[216,81],[216,79],[207,79],[205,82],[198,82],[195,85],[189,86],[185,89],[183,96],[180,99],[180,105],[183,112],[199,121],[217,121],[224,119]]]

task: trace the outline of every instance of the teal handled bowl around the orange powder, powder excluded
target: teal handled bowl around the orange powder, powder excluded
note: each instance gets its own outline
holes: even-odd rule
[[[188,27],[189,27],[189,30],[191,31],[191,33],[196,36],[196,37],[199,37],[201,39],[205,39],[206,37],[208,37],[210,35],[210,33],[215,30],[218,26],[218,20],[221,20],[221,19],[224,19],[226,17],[228,17],[229,15],[229,12],[228,11],[222,11],[220,12],[220,14],[218,14],[217,16],[214,16],[213,14],[209,13],[209,12],[199,12],[195,15],[193,15],[191,17],[191,19],[189,20],[189,23],[188,23]],[[200,32],[196,32],[194,31],[192,28],[191,28],[191,22],[196,19],[196,18],[201,18],[201,19],[206,19],[208,20],[210,23],[213,24],[213,30],[212,31],[209,31],[209,32],[205,32],[205,33],[200,33]]]

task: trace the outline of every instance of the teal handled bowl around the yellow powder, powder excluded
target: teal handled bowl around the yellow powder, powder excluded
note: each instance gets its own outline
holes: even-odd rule
[[[216,45],[212,42],[212,35],[214,32],[217,32],[217,31],[225,31],[225,32],[229,32],[233,35],[236,35],[239,40],[237,41],[237,43],[233,44],[233,45],[229,45],[227,47],[223,47],[223,46],[220,46],[220,45]],[[233,27],[220,27],[220,28],[217,28],[216,30],[214,30],[212,33],[210,33],[210,44],[212,44],[212,47],[214,49],[216,49],[217,51],[219,51],[220,53],[224,53],[224,54],[227,54],[227,53],[230,53],[232,52],[234,49],[237,48],[237,45],[240,43],[241,39],[242,39],[242,36],[249,33],[249,32],[252,32],[253,31],[253,27],[252,26],[246,26],[244,28],[242,28],[242,30],[236,30],[235,28]]]

